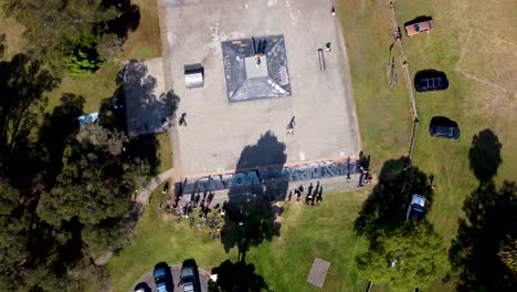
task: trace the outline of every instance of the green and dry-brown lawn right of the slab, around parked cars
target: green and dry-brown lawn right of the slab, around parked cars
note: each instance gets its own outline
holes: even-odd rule
[[[398,158],[404,150],[400,143],[403,140],[397,138],[405,134],[403,121],[399,118],[410,121],[403,76],[399,74],[398,87],[390,90],[382,74],[392,42],[389,1],[342,0],[339,8],[363,148],[372,155],[373,165],[379,166],[383,159]],[[457,220],[463,216],[463,200],[478,184],[469,170],[467,157],[473,135],[489,128],[502,142],[503,164],[497,182],[517,177],[517,156],[513,155],[517,150],[513,143],[517,140],[517,132],[510,126],[517,122],[517,81],[508,70],[517,62],[515,43],[510,43],[517,40],[513,12],[517,3],[511,0],[400,0],[395,8],[402,32],[404,22],[420,15],[432,17],[436,25],[429,35],[403,35],[411,74],[435,69],[444,71],[450,80],[447,91],[415,94],[420,127],[413,156],[415,166],[435,176],[437,188],[429,219],[449,246],[456,236]],[[514,90],[514,93],[475,81],[464,73]],[[377,100],[377,96],[383,98]],[[390,101],[389,106],[382,104],[387,101]],[[368,109],[374,115],[368,114]],[[456,121],[461,138],[456,142],[431,138],[429,122],[435,115]],[[453,288],[452,282],[436,281],[430,291]]]

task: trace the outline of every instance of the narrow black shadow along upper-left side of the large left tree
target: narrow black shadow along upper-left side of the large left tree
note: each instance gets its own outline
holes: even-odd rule
[[[49,161],[45,173],[46,185],[52,186],[63,167],[65,147],[72,143],[80,129],[77,117],[83,114],[85,100],[74,94],[63,94],[61,105],[52,114],[45,114],[40,129],[39,144],[45,149]]]

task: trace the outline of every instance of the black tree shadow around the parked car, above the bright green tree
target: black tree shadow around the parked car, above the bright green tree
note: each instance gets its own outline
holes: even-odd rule
[[[379,174],[379,182],[362,204],[355,230],[373,237],[379,230],[394,230],[407,221],[413,195],[425,197],[424,215],[431,210],[433,190],[430,176],[418,167],[408,168],[408,158],[387,160]]]

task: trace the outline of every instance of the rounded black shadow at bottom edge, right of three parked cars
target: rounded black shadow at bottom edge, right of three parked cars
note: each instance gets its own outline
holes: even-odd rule
[[[252,263],[230,260],[222,262],[212,269],[212,274],[218,275],[217,282],[210,280],[210,292],[215,291],[270,291],[264,278],[256,274]]]

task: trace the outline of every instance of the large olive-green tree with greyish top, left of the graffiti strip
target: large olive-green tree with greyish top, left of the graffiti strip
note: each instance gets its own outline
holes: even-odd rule
[[[85,225],[120,217],[147,166],[124,152],[127,137],[99,125],[83,128],[70,149],[66,165],[51,191],[43,194],[39,215],[52,226],[73,217]]]

